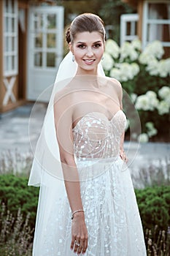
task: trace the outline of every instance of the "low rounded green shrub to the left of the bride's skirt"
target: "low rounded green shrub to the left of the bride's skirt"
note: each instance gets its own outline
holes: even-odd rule
[[[29,223],[35,225],[36,208],[38,203],[39,188],[28,187],[28,178],[17,177],[12,174],[0,176],[0,201],[7,210],[16,217],[21,209],[23,217],[30,214]],[[1,208],[0,208],[1,211]]]

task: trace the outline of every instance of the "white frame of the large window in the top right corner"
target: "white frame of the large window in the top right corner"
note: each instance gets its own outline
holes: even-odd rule
[[[144,7],[143,7],[143,26],[142,26],[142,48],[144,48],[149,41],[147,40],[147,28],[149,24],[161,24],[161,25],[170,25],[170,19],[169,20],[163,20],[163,19],[149,19],[147,17],[148,14],[148,8],[149,4],[169,4],[169,0],[147,0],[144,1]],[[170,42],[162,42],[163,47],[170,47]]]

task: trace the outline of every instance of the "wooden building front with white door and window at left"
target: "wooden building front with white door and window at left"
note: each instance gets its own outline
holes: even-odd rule
[[[63,58],[63,7],[53,4],[0,1],[0,113],[36,100],[54,83]]]

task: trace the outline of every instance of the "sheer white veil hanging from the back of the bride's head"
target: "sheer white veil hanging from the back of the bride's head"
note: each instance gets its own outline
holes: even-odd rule
[[[53,102],[56,92],[63,89],[74,78],[77,72],[77,63],[72,61],[72,53],[69,52],[61,61],[58,73],[53,86],[47,113],[42,125],[39,140],[34,151],[34,161],[31,167],[31,174],[28,186],[39,187],[48,182],[47,177],[55,178],[56,186],[61,187],[63,172],[61,167],[58,141],[55,135]],[[104,70],[101,63],[98,64],[98,75],[104,77]],[[63,182],[62,182],[63,184]]]

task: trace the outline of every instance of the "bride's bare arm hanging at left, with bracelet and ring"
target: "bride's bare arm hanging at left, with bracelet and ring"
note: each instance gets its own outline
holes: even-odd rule
[[[72,212],[83,209],[80,194],[80,181],[77,166],[74,161],[73,134],[72,134],[72,108],[70,108],[70,99],[63,97],[55,99],[54,118],[55,130],[58,140],[58,146],[63,168],[63,177],[66,187],[66,193]],[[69,105],[68,105],[69,104]],[[80,244],[77,246],[75,244]],[[88,247],[88,231],[85,225],[85,215],[83,211],[74,214],[72,220],[72,243],[71,249],[74,252],[85,253]]]

